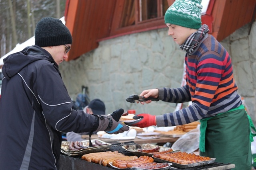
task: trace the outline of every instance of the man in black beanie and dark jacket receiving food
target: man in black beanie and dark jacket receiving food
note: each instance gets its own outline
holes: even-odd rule
[[[57,170],[62,133],[105,131],[118,134],[129,127],[111,115],[86,114],[73,103],[59,64],[67,59],[72,36],[56,18],[36,25],[35,45],[4,59],[0,100],[0,167],[4,170]]]

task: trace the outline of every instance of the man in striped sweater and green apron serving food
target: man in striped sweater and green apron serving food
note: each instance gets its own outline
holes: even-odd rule
[[[164,16],[168,35],[186,52],[186,85],[149,89],[140,94],[171,103],[192,101],[192,105],[163,115],[136,115],[134,118],[142,119],[132,126],[168,127],[200,120],[200,155],[235,164],[236,170],[250,170],[252,121],[238,95],[230,55],[208,34],[208,25],[201,23],[201,2],[176,0]]]

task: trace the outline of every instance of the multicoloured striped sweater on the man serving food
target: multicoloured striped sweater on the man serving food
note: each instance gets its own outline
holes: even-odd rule
[[[158,127],[191,123],[215,116],[242,104],[237,94],[232,63],[226,49],[206,34],[202,43],[185,56],[186,85],[180,88],[158,88],[164,102],[192,101],[186,108],[156,116]]]

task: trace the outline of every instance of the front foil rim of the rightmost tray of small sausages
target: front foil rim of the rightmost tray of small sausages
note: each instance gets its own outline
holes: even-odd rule
[[[213,164],[215,159],[216,159],[216,158],[211,158],[211,160],[204,160],[204,161],[195,162],[195,163],[192,163],[192,164],[178,164],[178,163],[175,163],[175,162],[170,162],[168,160],[156,158],[156,157],[154,157],[154,155],[152,156],[152,158],[154,158],[154,160],[156,162],[172,163],[173,166],[176,166],[178,168],[191,168],[191,167],[195,167],[195,166],[202,166],[202,165],[207,165],[207,164]]]

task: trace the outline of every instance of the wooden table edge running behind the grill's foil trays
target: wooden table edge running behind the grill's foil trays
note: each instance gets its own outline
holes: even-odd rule
[[[89,135],[82,135],[82,138],[84,140],[89,140]],[[98,135],[92,135],[91,139],[100,139],[101,141],[104,141],[106,143],[126,143],[126,142],[133,141],[134,143],[137,143],[137,144],[145,144],[145,143],[162,144],[162,143],[166,143],[166,142],[174,143],[179,138],[178,137],[176,137],[176,138],[160,137],[158,139],[139,139],[138,137],[135,137],[135,139],[131,139],[131,140],[117,140],[117,139],[99,138]]]

